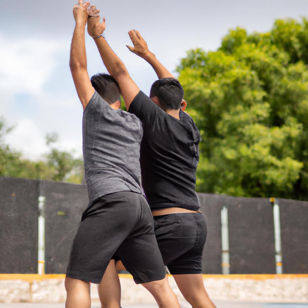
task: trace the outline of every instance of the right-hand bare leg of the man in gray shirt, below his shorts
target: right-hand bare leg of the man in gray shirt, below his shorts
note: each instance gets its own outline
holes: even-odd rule
[[[142,283],[153,295],[160,308],[180,308],[176,295],[169,286],[167,276],[162,280]]]

